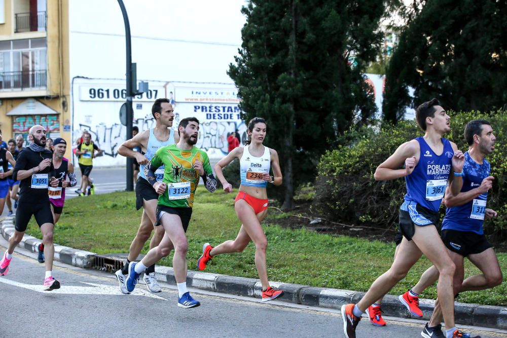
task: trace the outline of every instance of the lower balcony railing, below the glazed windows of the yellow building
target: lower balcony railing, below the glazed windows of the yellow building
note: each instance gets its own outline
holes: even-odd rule
[[[0,91],[46,88],[46,70],[0,72]]]

